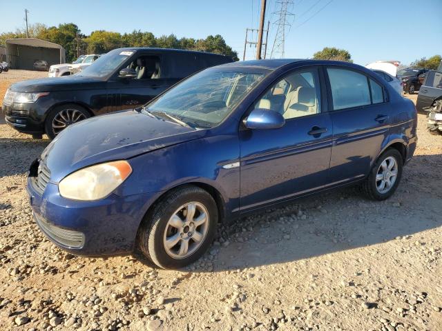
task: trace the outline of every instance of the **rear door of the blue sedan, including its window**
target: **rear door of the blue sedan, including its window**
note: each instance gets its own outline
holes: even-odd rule
[[[368,174],[388,139],[390,104],[381,79],[340,66],[325,71],[334,140],[328,185],[338,185]]]

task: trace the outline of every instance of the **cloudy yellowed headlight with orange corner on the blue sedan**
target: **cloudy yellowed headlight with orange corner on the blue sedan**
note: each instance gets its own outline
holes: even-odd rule
[[[74,200],[99,200],[107,197],[131,174],[127,161],[92,165],[69,174],[58,185],[61,197]]]

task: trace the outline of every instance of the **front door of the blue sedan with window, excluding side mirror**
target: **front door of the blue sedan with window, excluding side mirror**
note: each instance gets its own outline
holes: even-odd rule
[[[240,129],[240,209],[322,188],[327,180],[332,121],[323,109],[318,68],[296,70],[273,84],[253,108],[280,112],[285,126]]]

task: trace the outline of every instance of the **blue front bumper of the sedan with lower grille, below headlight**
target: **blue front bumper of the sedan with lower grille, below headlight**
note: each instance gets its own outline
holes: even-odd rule
[[[103,256],[132,252],[138,227],[151,196],[111,194],[99,201],[61,197],[56,183],[41,194],[28,177],[30,205],[37,225],[55,245],[77,255]]]

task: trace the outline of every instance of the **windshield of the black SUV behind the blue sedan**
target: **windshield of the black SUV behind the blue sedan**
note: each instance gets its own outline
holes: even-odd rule
[[[86,77],[106,77],[124,63],[134,52],[131,50],[115,50],[104,54],[77,75]]]

